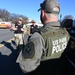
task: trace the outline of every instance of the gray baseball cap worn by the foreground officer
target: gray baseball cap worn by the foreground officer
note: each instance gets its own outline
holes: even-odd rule
[[[58,10],[55,10],[54,8],[58,8]],[[39,10],[45,10],[48,13],[59,14],[60,6],[57,0],[44,0],[44,2],[40,4]]]

